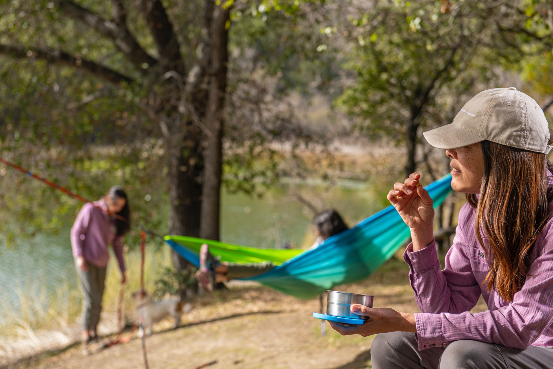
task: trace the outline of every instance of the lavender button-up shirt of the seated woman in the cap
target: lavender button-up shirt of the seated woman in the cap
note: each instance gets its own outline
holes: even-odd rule
[[[548,210],[551,214],[553,202]],[[419,350],[445,347],[457,340],[493,342],[516,349],[553,346],[553,220],[537,238],[526,282],[509,303],[482,285],[490,264],[476,238],[474,216],[470,205],[461,208],[444,270],[440,271],[435,241],[419,251],[413,251],[411,244],[403,255],[422,311],[415,314]],[[480,295],[488,310],[469,313]]]

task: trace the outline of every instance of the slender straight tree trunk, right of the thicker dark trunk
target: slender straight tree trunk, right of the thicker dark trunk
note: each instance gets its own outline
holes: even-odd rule
[[[212,0],[208,0],[212,3]],[[222,173],[223,108],[227,87],[227,22],[230,9],[211,4],[211,55],[208,66],[208,101],[205,116],[204,179],[200,237],[219,240]]]

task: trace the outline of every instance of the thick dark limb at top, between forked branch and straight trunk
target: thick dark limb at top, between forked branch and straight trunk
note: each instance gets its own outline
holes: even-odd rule
[[[184,60],[180,54],[179,40],[161,0],[142,0],[140,4],[148,28],[154,37],[155,44],[158,46],[162,72],[174,70],[184,78]]]

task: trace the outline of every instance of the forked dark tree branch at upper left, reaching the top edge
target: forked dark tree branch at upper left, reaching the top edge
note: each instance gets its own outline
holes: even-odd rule
[[[110,38],[116,48],[131,61],[141,72],[144,71],[144,63],[148,66],[155,65],[157,60],[148,55],[134,39],[125,23],[126,11],[121,1],[113,0],[114,20],[100,17],[70,0],[58,0],[59,8],[71,18],[78,19],[89,25],[101,35]]]

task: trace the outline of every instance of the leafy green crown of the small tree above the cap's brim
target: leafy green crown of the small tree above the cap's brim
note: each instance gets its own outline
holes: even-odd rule
[[[498,60],[489,58],[485,49],[490,45],[482,42],[492,37],[492,29],[478,15],[485,12],[479,2],[457,3],[455,17],[442,14],[435,1],[378,4],[370,13],[350,18],[348,33],[357,42],[346,67],[356,79],[336,106],[358,118],[358,128],[369,137],[402,142],[406,122],[419,119],[427,126],[446,121],[426,108],[419,117],[421,106],[443,101],[441,93],[455,97],[474,82],[486,84]]]

